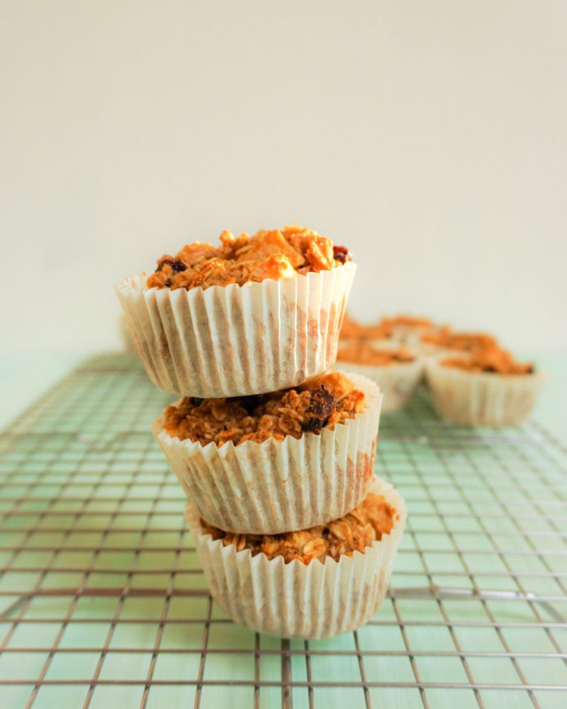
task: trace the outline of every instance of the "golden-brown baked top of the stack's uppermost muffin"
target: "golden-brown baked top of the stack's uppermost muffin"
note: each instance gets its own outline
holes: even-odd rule
[[[300,226],[260,230],[253,236],[230,231],[220,245],[193,242],[174,256],[164,255],[147,279],[149,288],[209,288],[242,286],[248,281],[293,278],[297,274],[330,271],[351,260],[349,250],[335,246],[316,231]]]

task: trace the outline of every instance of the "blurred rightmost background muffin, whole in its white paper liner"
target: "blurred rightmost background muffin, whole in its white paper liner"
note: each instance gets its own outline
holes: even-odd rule
[[[496,345],[425,365],[435,408],[454,423],[514,426],[529,417],[546,376]]]

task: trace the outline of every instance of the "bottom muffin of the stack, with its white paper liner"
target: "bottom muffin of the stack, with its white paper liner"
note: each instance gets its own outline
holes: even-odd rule
[[[376,613],[405,518],[403,498],[379,479],[344,517],[283,535],[223,532],[186,506],[219,607],[258,632],[306,639],[354,630]]]

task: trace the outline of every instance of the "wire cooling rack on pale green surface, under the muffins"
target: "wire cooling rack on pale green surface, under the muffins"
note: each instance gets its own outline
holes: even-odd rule
[[[368,625],[277,640],[213,605],[133,359],[74,370],[0,437],[0,706],[522,709],[567,705],[566,452],[537,425],[383,417],[408,501]]]

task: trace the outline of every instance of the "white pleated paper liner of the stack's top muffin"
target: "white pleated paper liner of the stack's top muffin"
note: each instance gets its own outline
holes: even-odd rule
[[[116,285],[150,379],[164,391],[213,398],[296,386],[337,357],[356,265],[243,286]]]

